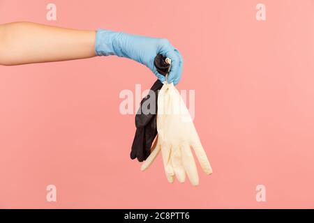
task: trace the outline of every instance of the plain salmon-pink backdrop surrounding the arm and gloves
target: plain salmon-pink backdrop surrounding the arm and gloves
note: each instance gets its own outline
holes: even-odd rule
[[[168,38],[214,174],[171,185],[160,157],[146,172],[130,160],[134,115],[119,113],[119,93],[149,89],[144,66],[0,66],[0,208],[314,208],[314,1],[0,0],[1,23],[21,20]]]

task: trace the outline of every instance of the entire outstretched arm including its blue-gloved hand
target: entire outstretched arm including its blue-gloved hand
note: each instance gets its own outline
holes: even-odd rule
[[[154,59],[158,54],[171,59],[167,82],[177,84],[181,78],[183,59],[179,51],[165,38],[136,36],[105,29],[66,29],[31,22],[0,24],[2,65],[116,55],[142,63],[160,82],[165,82],[165,76],[158,73],[154,66]]]

